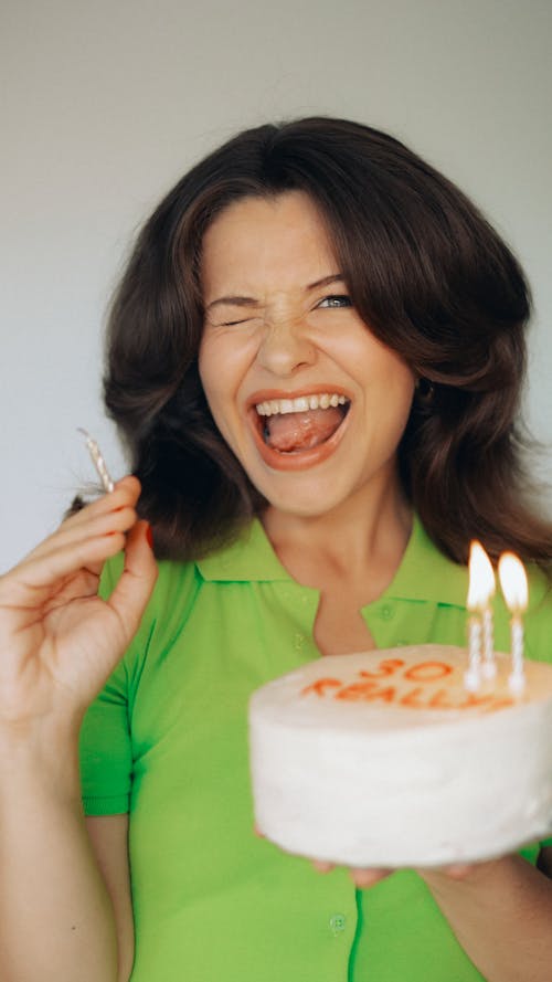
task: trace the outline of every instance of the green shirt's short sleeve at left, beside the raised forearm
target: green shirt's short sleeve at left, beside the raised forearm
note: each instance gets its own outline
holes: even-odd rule
[[[98,593],[109,596],[123,568],[121,557],[106,563]],[[132,750],[125,659],[89,706],[79,737],[81,783],[85,814],[124,814],[129,810]]]

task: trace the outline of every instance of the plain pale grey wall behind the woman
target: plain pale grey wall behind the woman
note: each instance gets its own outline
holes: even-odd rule
[[[388,129],[475,199],[532,284],[550,440],[550,0],[2,0],[0,39],[0,570],[93,477],[76,426],[124,473],[100,401],[124,257],[193,161],[267,119]]]

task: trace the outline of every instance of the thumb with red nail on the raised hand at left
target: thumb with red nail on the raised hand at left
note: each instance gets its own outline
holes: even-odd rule
[[[107,601],[117,614],[125,643],[135,635],[157,580],[157,563],[148,542],[149,525],[137,521],[127,536],[125,568]]]

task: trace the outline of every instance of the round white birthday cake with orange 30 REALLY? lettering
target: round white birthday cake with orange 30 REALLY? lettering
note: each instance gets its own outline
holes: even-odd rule
[[[423,645],[311,662],[250,705],[259,831],[348,866],[434,866],[517,849],[552,830],[552,667],[510,658],[477,691],[467,654]]]

